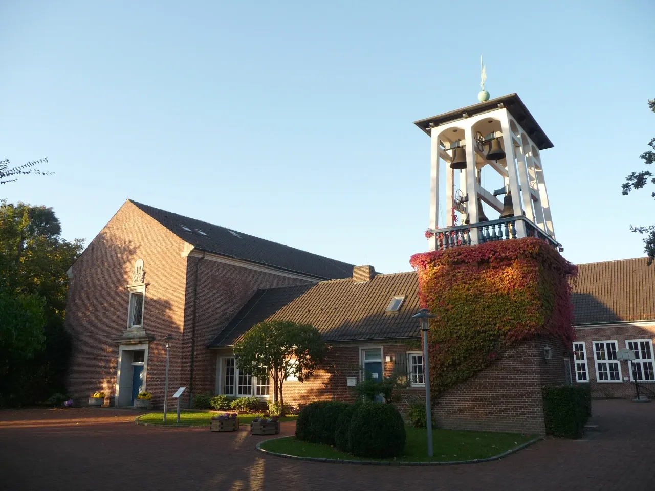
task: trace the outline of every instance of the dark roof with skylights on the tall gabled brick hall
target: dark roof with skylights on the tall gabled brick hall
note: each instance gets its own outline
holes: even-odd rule
[[[129,201],[178,237],[198,247],[198,249],[299,272],[322,280],[335,280],[352,276],[352,264],[342,263],[341,261],[329,259],[329,257],[295,249],[295,247],[177,215],[136,201]],[[191,228],[192,231],[187,232],[180,225],[185,225]],[[196,228],[207,235],[199,234],[196,232]]]

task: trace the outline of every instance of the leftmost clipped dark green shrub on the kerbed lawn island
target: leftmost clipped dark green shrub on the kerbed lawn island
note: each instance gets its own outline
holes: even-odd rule
[[[334,445],[337,420],[350,404],[339,401],[310,403],[301,410],[295,424],[295,437],[310,443]]]

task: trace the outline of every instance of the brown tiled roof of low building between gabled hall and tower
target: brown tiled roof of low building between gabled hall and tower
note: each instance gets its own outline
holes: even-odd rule
[[[419,310],[415,272],[381,274],[365,283],[352,278],[316,285],[259,290],[210,343],[232,346],[253,325],[284,319],[316,327],[327,342],[419,336],[411,316]],[[394,296],[405,295],[397,314],[384,314]]]

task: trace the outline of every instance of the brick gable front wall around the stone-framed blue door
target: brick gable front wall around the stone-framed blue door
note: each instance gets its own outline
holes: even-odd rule
[[[163,399],[166,350],[162,338],[178,337],[171,351],[170,387],[180,385],[179,339],[183,330],[186,259],[184,241],[126,202],[73,264],[65,326],[73,340],[67,388],[77,404],[86,405],[96,390],[114,402],[119,338],[128,322],[132,271],[143,259],[145,292],[143,326],[155,341],[149,346],[146,389],[155,404]]]

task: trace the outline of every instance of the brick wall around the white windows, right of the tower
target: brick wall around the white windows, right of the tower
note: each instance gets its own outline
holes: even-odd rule
[[[591,384],[591,397],[611,398],[620,397],[633,399],[636,396],[635,384],[629,381],[629,368],[626,361],[620,361],[621,378],[620,382],[599,382],[596,377],[595,361],[593,357],[594,341],[616,341],[616,349],[626,348],[626,340],[630,339],[650,339],[655,338],[655,323],[652,325],[637,326],[634,324],[626,325],[608,325],[599,327],[576,327],[578,341],[585,343],[585,352],[587,359],[587,370],[589,373],[589,384]],[[628,380],[623,380],[628,378]],[[650,397],[655,397],[655,383],[640,382],[643,386],[644,393]]]

